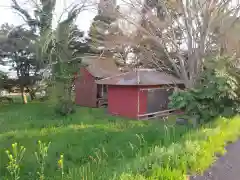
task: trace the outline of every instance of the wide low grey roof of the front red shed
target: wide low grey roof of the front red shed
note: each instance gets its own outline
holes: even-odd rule
[[[183,82],[169,74],[154,70],[137,70],[122,73],[96,81],[97,84],[107,85],[166,85],[183,84]]]

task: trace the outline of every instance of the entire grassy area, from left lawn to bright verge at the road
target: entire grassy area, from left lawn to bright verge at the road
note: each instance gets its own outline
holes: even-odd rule
[[[0,177],[8,175],[5,150],[26,147],[21,179],[36,179],[37,141],[51,142],[46,177],[61,179],[57,161],[64,154],[64,179],[183,179],[202,172],[240,134],[240,118],[219,119],[199,129],[169,121],[131,121],[104,110],[78,108],[68,117],[43,103],[0,108]]]

